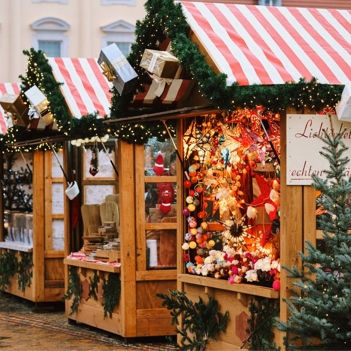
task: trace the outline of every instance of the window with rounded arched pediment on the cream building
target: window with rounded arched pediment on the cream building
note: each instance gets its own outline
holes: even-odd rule
[[[53,17],[37,20],[32,24],[36,34],[32,35],[32,46],[42,50],[47,57],[68,57],[68,36],[63,33],[69,24]]]

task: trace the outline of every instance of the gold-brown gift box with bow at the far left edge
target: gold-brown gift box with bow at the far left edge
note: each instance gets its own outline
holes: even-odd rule
[[[26,127],[30,123],[28,107],[24,104],[20,95],[4,94],[0,98],[0,105],[7,116],[8,128],[13,125]]]

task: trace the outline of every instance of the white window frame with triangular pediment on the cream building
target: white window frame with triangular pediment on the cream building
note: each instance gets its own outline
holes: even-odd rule
[[[107,24],[101,27],[101,30],[105,33],[101,38],[101,47],[107,46],[109,42],[126,42],[131,45],[135,40],[135,26],[124,20],[118,20],[117,22]]]

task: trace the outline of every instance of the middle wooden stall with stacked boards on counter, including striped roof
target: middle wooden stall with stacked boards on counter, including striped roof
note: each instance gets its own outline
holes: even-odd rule
[[[89,82],[83,81],[84,77],[91,76],[86,70],[89,66],[95,67],[96,60],[48,58],[48,61],[56,80],[63,82],[60,91],[71,116],[77,116],[79,111],[81,115],[84,111],[92,113],[91,106],[100,116],[108,115],[111,84],[107,83],[101,69],[93,69],[94,74],[98,73],[93,89],[88,89]],[[78,67],[84,67],[84,72]],[[72,68],[74,72],[70,72]],[[73,81],[75,89],[71,87],[72,77],[78,80]],[[86,91],[81,92],[81,87]],[[91,97],[91,102],[84,101],[86,95]],[[81,109],[81,100],[85,102],[85,110]],[[176,288],[174,248],[170,252],[167,247],[168,239],[173,243],[176,240],[176,204],[172,205],[172,216],[168,215],[161,222],[160,215],[159,220],[148,223],[141,205],[150,184],[155,183],[155,188],[166,180],[176,183],[176,176],[166,179],[153,175],[154,164],[150,165],[158,152],[157,146],[165,148],[166,151],[162,151],[167,156],[165,162],[169,162],[173,146],[170,142],[168,145],[156,143],[145,145],[147,149],[144,150],[142,145],[134,146],[113,138],[103,140],[102,144],[100,141],[104,138],[94,140],[84,135],[89,135],[89,130],[94,128],[89,120],[85,128],[69,143],[68,155],[63,160],[66,173],[76,170],[82,215],[75,229],[69,223],[65,226],[66,316],[71,323],[85,323],[127,338],[174,334],[171,316],[156,299],[156,293]],[[101,125],[96,128],[101,129]],[[153,210],[155,214],[160,212],[156,206]],[[65,213],[68,211],[66,199]],[[106,228],[107,223],[112,228]],[[113,245],[116,251],[100,250],[105,245],[100,247],[96,239],[104,230],[108,230],[104,236],[110,240],[104,243]],[[149,238],[163,252],[157,255],[156,266],[155,262],[152,266],[149,264]]]

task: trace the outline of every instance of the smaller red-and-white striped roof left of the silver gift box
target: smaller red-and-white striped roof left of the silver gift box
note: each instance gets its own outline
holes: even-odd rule
[[[63,83],[61,92],[72,116],[80,118],[89,113],[99,117],[110,115],[112,87],[97,59],[48,58],[55,79]]]

